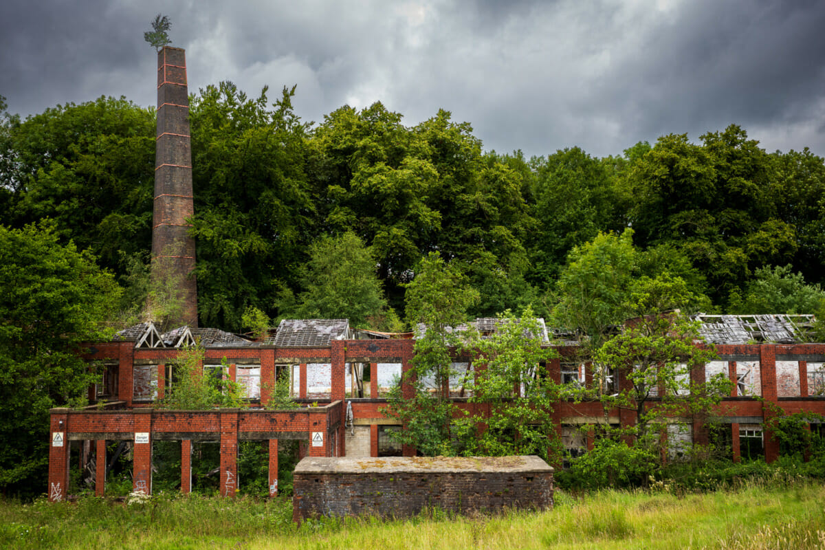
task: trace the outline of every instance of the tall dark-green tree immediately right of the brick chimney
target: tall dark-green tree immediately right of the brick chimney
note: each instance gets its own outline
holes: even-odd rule
[[[274,317],[284,287],[298,285],[312,242],[314,204],[304,172],[306,125],[295,89],[268,106],[221,82],[191,101],[198,316],[238,330],[252,306]]]

